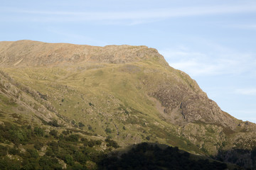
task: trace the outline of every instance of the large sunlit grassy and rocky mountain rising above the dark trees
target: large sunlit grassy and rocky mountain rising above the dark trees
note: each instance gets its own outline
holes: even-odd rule
[[[256,125],[222,111],[153,48],[0,42],[0,89],[3,126],[73,130],[101,150],[110,138],[158,142],[255,168]]]

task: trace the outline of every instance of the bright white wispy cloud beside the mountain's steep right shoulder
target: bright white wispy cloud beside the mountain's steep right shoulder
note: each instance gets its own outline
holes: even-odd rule
[[[256,71],[256,55],[230,52],[218,47],[218,52],[204,53],[186,49],[159,50],[171,67],[191,76],[242,74]]]

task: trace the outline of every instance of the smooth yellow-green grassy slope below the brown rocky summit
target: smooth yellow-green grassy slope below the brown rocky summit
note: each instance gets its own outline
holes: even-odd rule
[[[92,127],[92,134],[110,135],[120,145],[147,141],[149,136],[151,142],[200,153],[197,147],[188,145],[188,140],[177,137],[177,127],[161,118],[156,104],[147,96],[149,89],[145,87],[156,86],[163,74],[170,74],[169,71],[154,60],[100,66],[5,69],[17,81],[47,95],[47,100],[60,115],[75,120],[76,124],[83,123],[85,128]],[[144,79],[151,79],[151,84],[144,86]],[[112,132],[106,133],[106,128]]]

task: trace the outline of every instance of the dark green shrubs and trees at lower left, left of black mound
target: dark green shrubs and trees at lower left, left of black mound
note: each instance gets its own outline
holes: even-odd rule
[[[47,132],[44,128],[7,122],[0,125],[0,143],[1,170],[97,169],[97,162],[105,157],[97,148],[105,145],[110,152],[119,147],[110,138],[89,140],[71,130]]]

